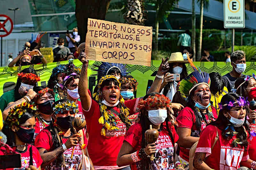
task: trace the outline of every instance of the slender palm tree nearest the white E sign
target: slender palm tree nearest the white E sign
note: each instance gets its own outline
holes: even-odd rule
[[[198,51],[197,51],[197,60],[200,60],[201,51],[202,51],[202,39],[203,39],[204,6],[206,9],[208,8],[209,0],[197,0],[197,4],[200,4],[200,33],[199,33]]]

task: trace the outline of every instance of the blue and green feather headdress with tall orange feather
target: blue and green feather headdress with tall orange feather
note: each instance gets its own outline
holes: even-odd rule
[[[189,58],[189,57],[188,57]],[[184,78],[180,82],[179,91],[180,95],[183,98],[187,98],[190,92],[198,85],[205,84],[210,87],[210,77],[209,74],[206,72],[202,72],[200,69],[197,70],[194,63],[189,59],[188,60],[191,67],[195,70],[194,72],[190,73],[188,77]]]

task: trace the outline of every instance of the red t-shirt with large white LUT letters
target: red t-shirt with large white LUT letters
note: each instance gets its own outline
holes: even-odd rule
[[[206,153],[205,163],[212,169],[237,169],[241,161],[249,159],[248,147],[244,150],[244,146],[238,144],[237,147],[233,147],[232,141],[222,137],[222,130],[218,129],[219,140],[214,147],[211,147],[214,143],[217,131],[215,126],[207,126],[201,133],[199,142],[196,147],[196,152]],[[236,139],[236,135],[232,138]]]

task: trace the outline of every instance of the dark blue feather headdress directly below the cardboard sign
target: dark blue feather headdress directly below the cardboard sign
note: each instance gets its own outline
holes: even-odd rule
[[[98,71],[98,74],[94,74],[92,76],[98,76],[98,80],[100,80],[100,78],[106,76],[108,74],[108,71],[112,68],[117,68],[118,70],[120,70],[122,76],[126,76],[127,72],[126,72],[125,65],[120,64],[120,63],[102,62],[102,64],[100,64],[100,66],[94,65],[94,66],[98,67],[98,69],[93,69],[93,70]]]

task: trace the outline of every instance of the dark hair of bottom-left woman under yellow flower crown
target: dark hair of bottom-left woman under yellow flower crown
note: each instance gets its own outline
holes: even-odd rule
[[[19,118],[19,124],[21,125],[21,124],[25,123],[31,117],[35,117],[35,111],[23,112],[23,114]],[[12,127],[10,127],[10,122],[8,122],[8,119],[6,119],[6,121],[4,122],[4,127],[2,129],[3,133],[7,137],[6,144],[8,144],[9,146],[15,146],[16,145],[16,141],[15,141],[15,133],[16,132],[12,131],[11,128]]]

